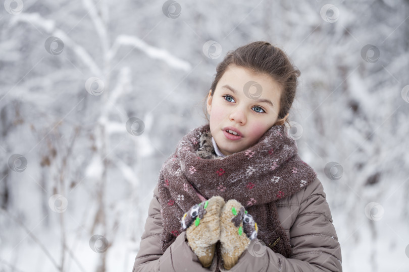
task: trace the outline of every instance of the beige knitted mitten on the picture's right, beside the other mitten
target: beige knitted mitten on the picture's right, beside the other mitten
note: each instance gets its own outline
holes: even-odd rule
[[[257,237],[257,223],[235,199],[230,199],[220,216],[221,253],[224,268],[233,267],[252,239]]]

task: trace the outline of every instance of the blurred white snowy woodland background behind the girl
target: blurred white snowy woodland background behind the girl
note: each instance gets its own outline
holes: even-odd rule
[[[289,131],[343,270],[409,271],[408,17],[407,0],[3,0],[0,271],[130,272],[217,63],[257,40],[301,71]]]

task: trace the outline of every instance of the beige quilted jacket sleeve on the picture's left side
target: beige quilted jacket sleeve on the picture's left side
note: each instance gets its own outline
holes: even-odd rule
[[[187,244],[186,232],[179,234],[176,240],[162,254],[161,233],[163,225],[161,203],[158,195],[157,185],[154,189],[154,197],[149,203],[148,217],[132,272],[215,271],[217,256],[215,255],[210,268],[203,267],[196,254]]]

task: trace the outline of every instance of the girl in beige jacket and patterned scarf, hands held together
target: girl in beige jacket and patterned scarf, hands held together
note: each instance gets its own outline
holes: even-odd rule
[[[323,186],[284,130],[299,75],[263,41],[218,64],[210,120],[164,163],[133,272],[342,271]]]

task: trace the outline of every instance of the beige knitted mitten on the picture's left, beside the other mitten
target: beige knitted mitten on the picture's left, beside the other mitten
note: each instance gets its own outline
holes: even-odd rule
[[[220,213],[225,202],[221,196],[194,205],[183,215],[180,223],[186,230],[190,248],[202,266],[209,267],[215,255],[216,242],[220,238]]]

